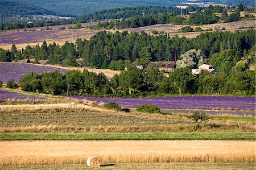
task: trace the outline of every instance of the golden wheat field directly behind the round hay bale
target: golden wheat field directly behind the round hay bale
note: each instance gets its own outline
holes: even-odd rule
[[[81,164],[89,156],[110,163],[255,163],[246,140],[1,141],[0,165]]]

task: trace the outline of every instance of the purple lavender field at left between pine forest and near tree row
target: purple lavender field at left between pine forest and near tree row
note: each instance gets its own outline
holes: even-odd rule
[[[3,83],[7,83],[8,80],[14,78],[15,82],[19,82],[19,77],[26,75],[30,72],[37,72],[39,74],[43,72],[60,71],[61,73],[66,72],[65,69],[47,67],[43,65],[34,65],[26,63],[5,63],[0,62],[0,80]]]

